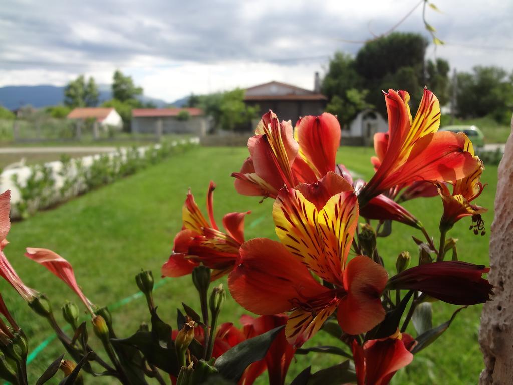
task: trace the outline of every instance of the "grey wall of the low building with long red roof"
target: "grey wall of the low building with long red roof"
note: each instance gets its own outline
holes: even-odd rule
[[[134,133],[155,133],[157,122],[162,120],[162,133],[190,133],[204,136],[208,130],[208,121],[205,117],[190,117],[186,121],[179,121],[174,117],[162,118],[132,118],[132,132]]]

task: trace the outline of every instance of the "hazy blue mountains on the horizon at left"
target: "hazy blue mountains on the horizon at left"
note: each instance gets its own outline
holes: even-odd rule
[[[109,85],[98,86],[100,104],[112,98]],[[169,103],[161,99],[142,95],[138,98],[143,103],[151,102],[157,107],[165,107]],[[13,110],[31,105],[34,108],[54,106],[64,101],[64,87],[56,86],[6,86],[0,87],[0,105]]]

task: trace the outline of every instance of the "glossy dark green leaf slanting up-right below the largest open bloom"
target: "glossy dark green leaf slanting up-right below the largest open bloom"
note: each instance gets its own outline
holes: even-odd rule
[[[214,368],[228,381],[239,382],[242,374],[251,363],[260,361],[265,357],[272,341],[284,328],[285,325],[279,326],[260,336],[235,345],[215,361]]]

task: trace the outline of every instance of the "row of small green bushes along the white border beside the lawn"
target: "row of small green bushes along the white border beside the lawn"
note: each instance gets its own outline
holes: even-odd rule
[[[63,156],[60,162],[29,167],[26,178],[10,175],[19,192],[11,205],[11,218],[27,218],[73,196],[135,174],[199,143],[197,140],[163,142],[143,148],[123,148],[115,153],[81,159]]]

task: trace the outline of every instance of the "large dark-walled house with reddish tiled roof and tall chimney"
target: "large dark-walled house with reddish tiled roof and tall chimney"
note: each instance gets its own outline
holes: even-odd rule
[[[299,117],[324,112],[327,98],[321,93],[320,85],[318,72],[315,72],[313,90],[272,81],[247,88],[244,102],[258,106],[260,115],[272,110],[280,120],[291,120],[293,125]]]

